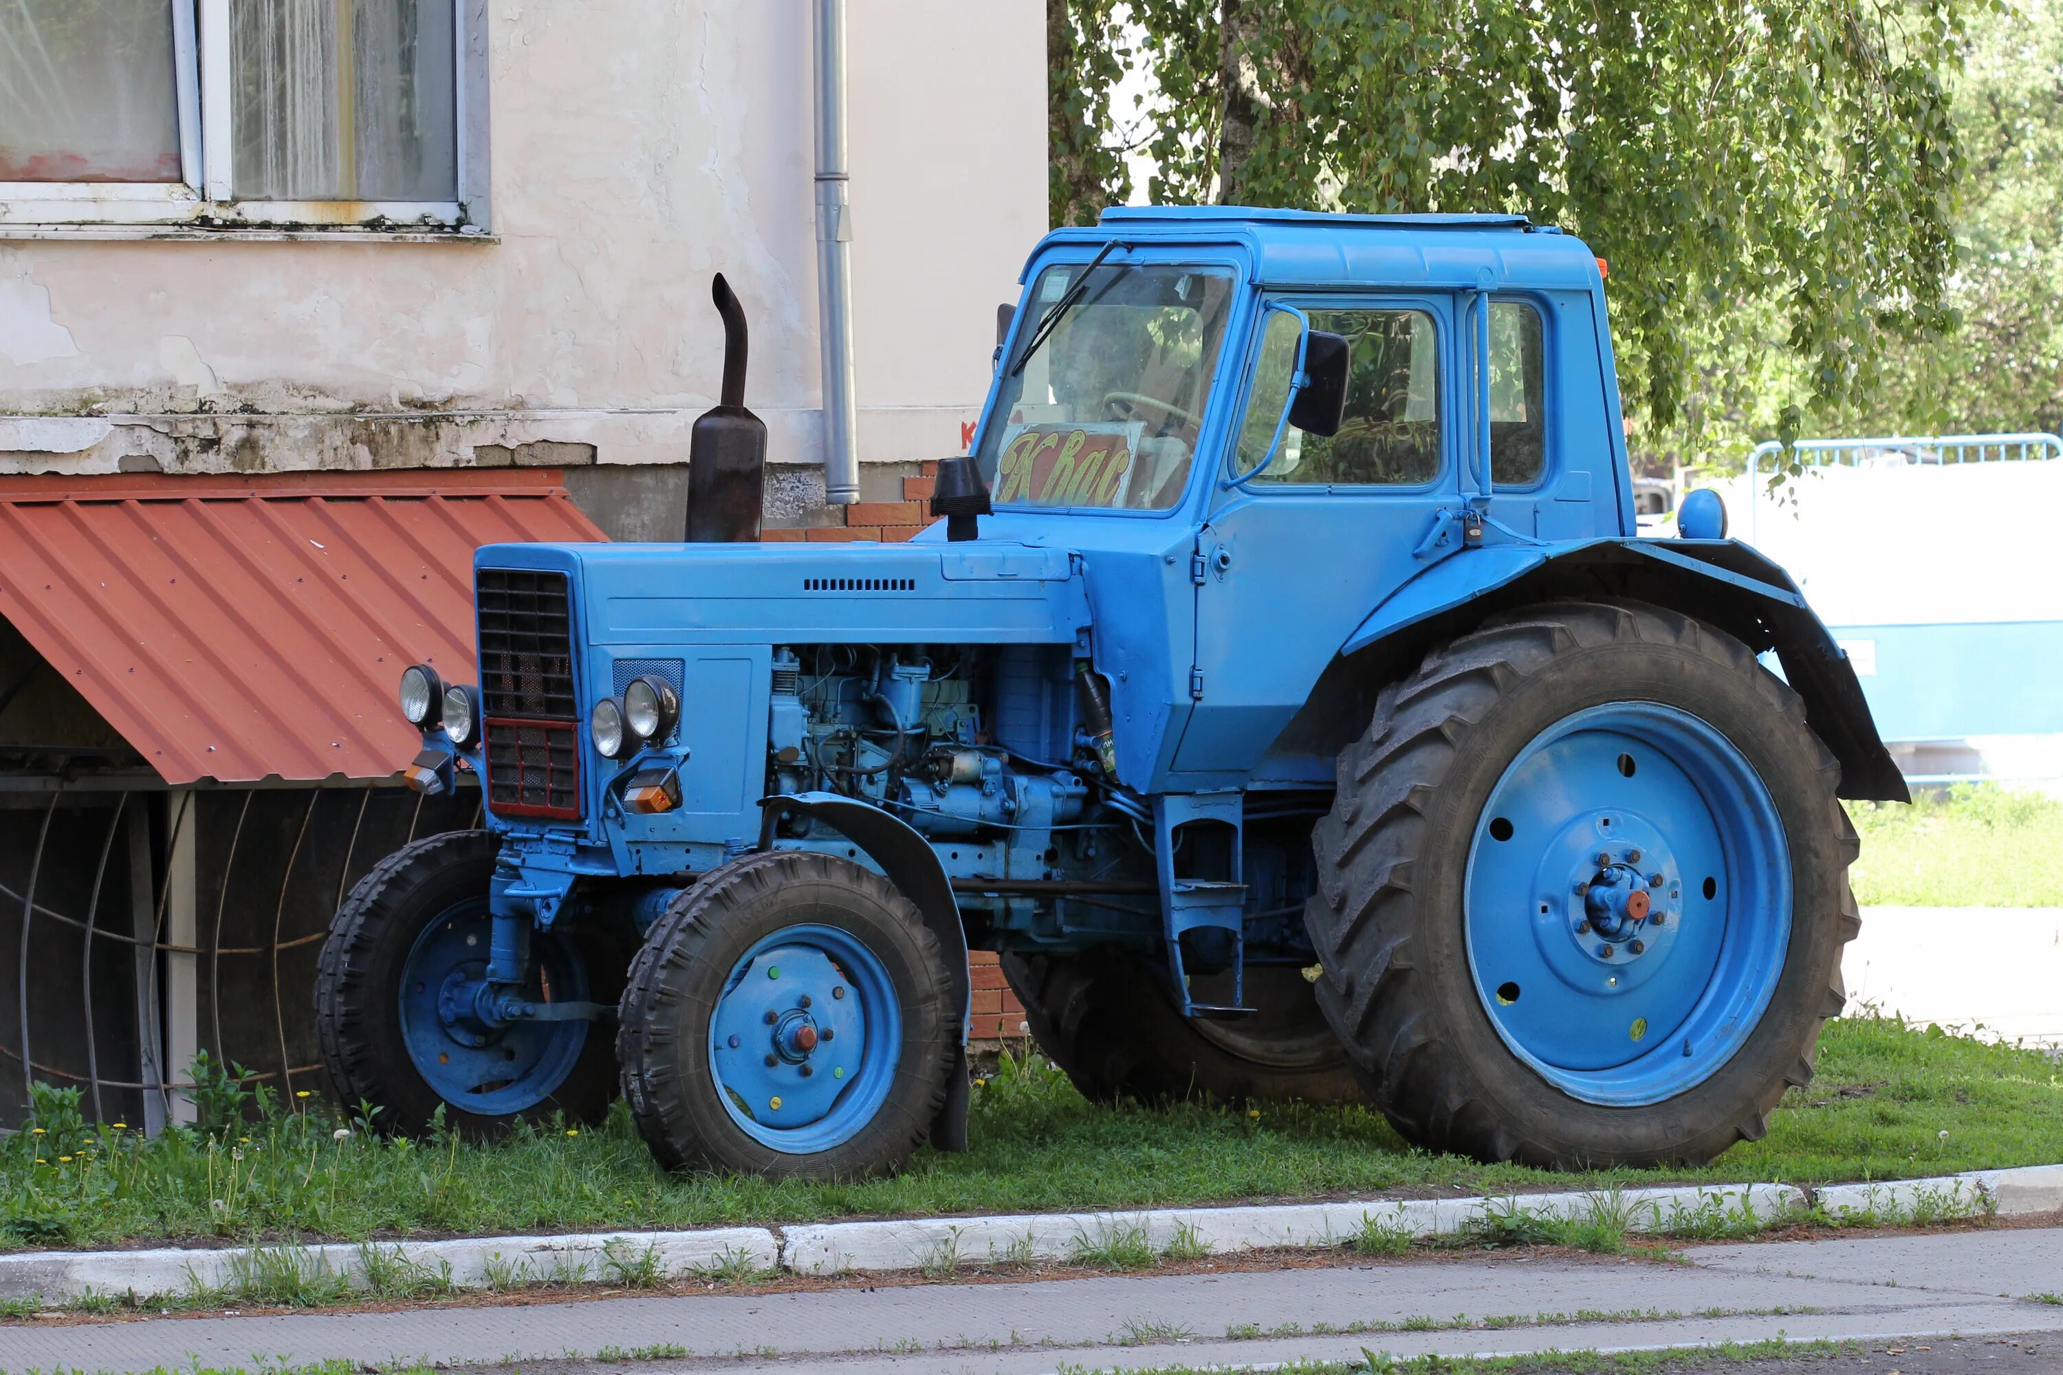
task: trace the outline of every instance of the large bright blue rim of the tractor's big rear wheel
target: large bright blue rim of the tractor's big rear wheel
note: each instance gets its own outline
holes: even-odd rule
[[[1661,703],[1556,722],[1510,763],[1469,847],[1469,969],[1547,1082],[1609,1107],[1712,1078],[1768,1010],[1791,944],[1791,851],[1768,787]]]

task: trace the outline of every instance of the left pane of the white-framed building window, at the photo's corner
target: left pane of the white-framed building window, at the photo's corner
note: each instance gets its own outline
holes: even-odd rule
[[[0,181],[177,181],[167,0],[0,0]]]

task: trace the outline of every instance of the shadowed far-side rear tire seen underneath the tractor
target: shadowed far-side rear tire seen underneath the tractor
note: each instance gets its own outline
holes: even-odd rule
[[[1164,977],[1133,954],[1005,954],[1001,963],[1032,1039],[1085,1099],[1360,1103],[1366,1097],[1296,967],[1248,967],[1244,994],[1258,1014],[1205,1022],[1182,1016]]]

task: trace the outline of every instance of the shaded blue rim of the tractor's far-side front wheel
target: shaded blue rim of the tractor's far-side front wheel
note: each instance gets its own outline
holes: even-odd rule
[[[588,1022],[487,1027],[468,1016],[464,992],[487,977],[491,936],[485,897],[456,903],[423,928],[402,963],[400,1031],[408,1060],[437,1097],[481,1117],[505,1117],[559,1091],[588,1043]],[[530,938],[524,994],[586,1002],[586,961],[565,936]]]

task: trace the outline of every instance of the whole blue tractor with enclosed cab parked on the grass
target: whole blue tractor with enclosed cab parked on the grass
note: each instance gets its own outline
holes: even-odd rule
[[[980,948],[1093,1099],[1364,1099],[1547,1167],[1760,1136],[1842,1006],[1838,798],[1906,790],[1710,495],[1636,536],[1591,249],[1118,208],[1023,284],[908,544],[753,542],[718,282],[691,538],[479,550],[481,682],[400,697],[487,829],[338,911],[342,1101],[621,1084],[668,1167],[889,1171],[965,1146]]]

